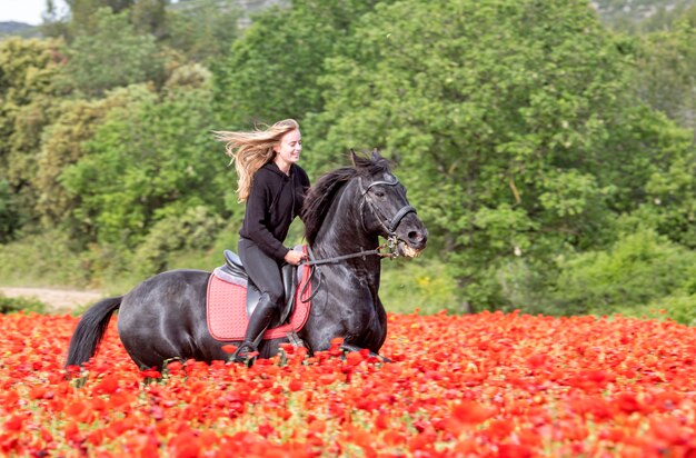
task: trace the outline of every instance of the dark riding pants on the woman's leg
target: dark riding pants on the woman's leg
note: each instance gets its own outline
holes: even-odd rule
[[[281,263],[261,251],[253,241],[245,238],[239,238],[238,250],[249,279],[261,292],[259,303],[249,317],[249,327],[245,335],[245,340],[253,341],[270,323],[285,298]]]

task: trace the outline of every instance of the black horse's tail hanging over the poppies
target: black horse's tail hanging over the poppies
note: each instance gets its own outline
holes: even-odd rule
[[[89,308],[72,333],[67,366],[79,366],[95,356],[107,331],[111,315],[121,306],[123,296],[103,299]]]

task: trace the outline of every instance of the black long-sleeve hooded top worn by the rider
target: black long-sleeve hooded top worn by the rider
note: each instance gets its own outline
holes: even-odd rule
[[[269,257],[282,261],[289,251],[282,242],[300,215],[309,177],[298,165],[285,175],[275,162],[261,167],[251,182],[239,235],[256,242]]]

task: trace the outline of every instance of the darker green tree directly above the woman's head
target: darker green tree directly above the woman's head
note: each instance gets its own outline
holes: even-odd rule
[[[248,128],[320,112],[325,59],[376,3],[297,0],[255,17],[229,57],[212,67],[221,123]]]

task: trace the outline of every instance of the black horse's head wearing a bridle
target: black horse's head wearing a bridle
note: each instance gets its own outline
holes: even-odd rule
[[[398,252],[416,257],[426,248],[428,230],[416,209],[406,198],[406,188],[388,167],[388,162],[372,151],[371,160],[350,152],[356,178],[361,225],[366,232],[377,232],[397,245]]]

